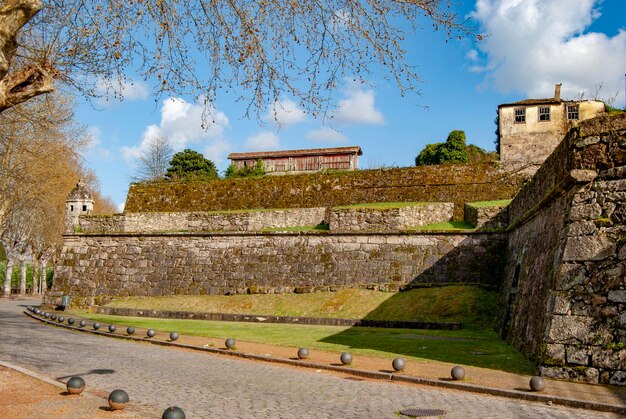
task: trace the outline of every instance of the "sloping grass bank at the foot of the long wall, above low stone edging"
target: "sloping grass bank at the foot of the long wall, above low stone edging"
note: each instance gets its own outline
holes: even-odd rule
[[[116,298],[108,307],[375,320],[462,322],[489,327],[497,294],[471,286],[399,293],[364,289],[309,294],[180,295]]]

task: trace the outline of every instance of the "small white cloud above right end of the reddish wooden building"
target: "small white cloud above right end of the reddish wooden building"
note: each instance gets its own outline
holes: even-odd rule
[[[351,84],[346,90],[346,99],[339,101],[337,111],[333,119],[345,124],[371,124],[380,125],[385,123],[385,117],[374,106],[374,91],[365,90],[356,84]]]

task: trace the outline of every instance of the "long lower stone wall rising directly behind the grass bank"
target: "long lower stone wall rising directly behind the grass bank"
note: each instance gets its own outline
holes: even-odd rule
[[[505,248],[479,233],[88,234],[66,239],[49,298],[496,286]]]

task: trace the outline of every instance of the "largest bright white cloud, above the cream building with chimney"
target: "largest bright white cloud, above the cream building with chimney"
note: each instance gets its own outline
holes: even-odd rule
[[[622,90],[626,31],[615,36],[585,32],[599,16],[600,0],[477,0],[471,16],[489,36],[478,43],[487,61],[472,67],[487,73],[497,90],[550,97],[562,82],[564,98],[602,98]],[[472,58],[470,55],[468,58]],[[617,104],[623,104],[618,95]]]

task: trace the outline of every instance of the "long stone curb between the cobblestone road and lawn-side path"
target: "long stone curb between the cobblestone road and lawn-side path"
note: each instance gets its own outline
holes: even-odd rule
[[[126,340],[131,340],[131,341],[136,341],[136,342],[146,342],[146,343],[151,343],[153,345],[160,345],[160,346],[174,346],[174,347],[190,349],[194,351],[229,355],[233,357],[249,359],[249,360],[254,360],[254,361],[273,362],[276,364],[284,364],[284,365],[290,365],[290,366],[295,366],[295,367],[304,367],[304,368],[312,368],[316,370],[341,372],[341,373],[350,374],[350,375],[357,376],[357,377],[371,378],[375,380],[388,380],[388,381],[397,381],[397,382],[404,382],[404,383],[411,383],[411,384],[422,384],[422,385],[427,385],[431,387],[441,387],[441,388],[460,390],[460,391],[466,391],[466,392],[472,392],[472,393],[506,397],[510,399],[540,402],[540,403],[553,404],[553,405],[558,405],[558,406],[573,407],[573,408],[578,408],[578,409],[588,409],[588,410],[595,410],[599,412],[608,412],[608,413],[617,413],[620,415],[626,415],[626,406],[623,406],[623,405],[598,403],[598,402],[592,402],[592,401],[553,396],[553,395],[543,395],[543,394],[531,393],[530,391],[524,392],[524,391],[519,391],[519,390],[506,390],[506,389],[498,389],[498,388],[493,388],[493,387],[479,386],[475,384],[466,384],[466,383],[459,383],[459,382],[453,382],[453,381],[442,381],[442,380],[435,380],[435,379],[430,379],[430,378],[420,378],[420,377],[408,376],[408,375],[397,374],[397,373],[385,373],[385,372],[378,372],[378,371],[359,370],[359,369],[353,369],[350,367],[319,364],[315,362],[308,362],[308,361],[301,361],[301,360],[294,360],[294,359],[274,358],[269,355],[266,356],[266,355],[246,354],[242,352],[231,351],[228,349],[218,349],[218,348],[208,348],[208,347],[202,347],[202,346],[186,345],[183,343],[176,343],[176,342],[163,341],[163,340],[153,340],[150,338],[143,338],[143,337],[137,337],[137,336],[125,336],[125,335],[120,335],[120,334],[115,334],[115,333],[110,333],[110,332],[100,332],[96,330],[58,323],[52,320],[41,318],[35,315],[34,313],[31,313],[28,311],[24,311],[24,314],[26,314],[27,316],[35,320],[39,320],[42,323],[46,323],[52,326],[62,327],[65,329],[75,330],[79,332],[91,333],[94,335],[113,337],[117,339],[126,339]],[[2,365],[1,361],[0,361],[0,365]],[[39,378],[39,377],[36,377],[36,378]]]

